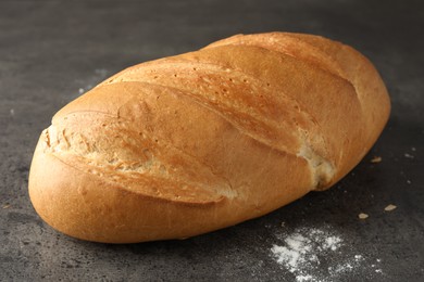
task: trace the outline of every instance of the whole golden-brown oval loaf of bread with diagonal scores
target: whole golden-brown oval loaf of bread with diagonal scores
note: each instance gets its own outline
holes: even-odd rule
[[[238,35],[129,67],[55,114],[37,213],[83,240],[184,239],[340,180],[390,110],[373,65],[319,36]]]

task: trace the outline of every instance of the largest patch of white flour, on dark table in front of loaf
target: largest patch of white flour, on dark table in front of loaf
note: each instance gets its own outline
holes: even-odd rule
[[[297,282],[338,281],[356,270],[370,269],[364,256],[352,255],[349,243],[329,227],[296,229],[280,235],[280,240],[282,244],[271,247],[271,254]],[[379,259],[376,261],[381,262]],[[374,273],[383,273],[376,264],[371,268]]]

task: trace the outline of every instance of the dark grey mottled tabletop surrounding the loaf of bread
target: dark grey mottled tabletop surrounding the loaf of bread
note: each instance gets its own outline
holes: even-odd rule
[[[424,281],[423,7],[2,0],[0,281]],[[32,154],[59,108],[126,66],[271,30],[356,47],[390,92],[392,112],[381,139],[333,189],[184,241],[83,242],[37,216],[27,193]],[[374,156],[382,162],[371,163]],[[385,211],[389,204],[397,208]],[[360,213],[369,218],[359,219]]]

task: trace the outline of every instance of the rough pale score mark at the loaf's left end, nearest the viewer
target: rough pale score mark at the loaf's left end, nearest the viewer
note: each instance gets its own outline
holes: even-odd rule
[[[78,115],[80,114],[82,112],[78,112]],[[144,183],[142,179],[148,177],[151,178],[153,182],[163,182],[164,185],[178,187],[178,189],[170,190],[162,184],[158,184],[159,187],[162,187],[158,190],[155,188],[149,188],[148,184],[139,192],[142,194],[147,193],[147,195],[154,197],[169,198],[182,203],[185,201],[189,203],[219,202],[223,196],[233,198],[237,195],[237,192],[232,189],[230,184],[226,183],[228,180],[219,180],[219,176],[213,174],[213,171],[211,171],[211,174],[215,176],[217,182],[209,181],[208,184],[199,181],[199,179],[192,179],[187,175],[182,176],[180,174],[176,174],[179,177],[175,178],[175,174],[172,172],[172,166],[167,163],[162,163],[162,161],[153,155],[152,152],[149,152],[149,156],[146,159],[137,161],[125,159],[117,155],[114,155],[112,158],[110,156],[104,156],[104,144],[96,144],[93,143],[93,140],[85,137],[84,132],[72,132],[72,128],[66,128],[66,126],[61,125],[59,120],[57,121],[57,125],[51,125],[48,129],[43,130],[41,134],[41,148],[43,153],[51,154],[57,158],[62,159],[65,164],[68,162],[64,162],[63,159],[73,159],[72,164],[68,165],[76,167],[82,171],[101,178],[105,177],[112,182],[122,182],[124,185],[129,185],[127,188],[133,191],[138,191],[138,189],[130,189],[134,181],[141,181]],[[125,136],[124,132],[122,132],[122,134]],[[144,144],[140,145],[142,146]],[[170,146],[171,144],[164,145]],[[175,148],[164,149],[166,152],[173,151],[173,154],[177,157],[185,153],[180,150],[178,150],[178,153],[175,152]],[[179,157],[188,158],[188,162],[194,163],[195,165],[198,163],[194,156],[187,154]],[[204,170],[205,167],[202,164],[200,165],[202,170]],[[198,164],[197,166],[200,165]],[[128,182],[128,179],[133,179],[133,182]]]

